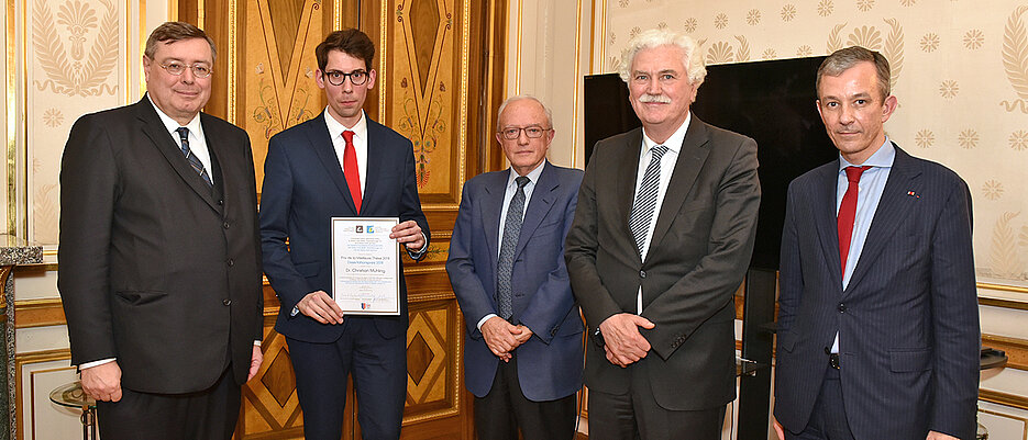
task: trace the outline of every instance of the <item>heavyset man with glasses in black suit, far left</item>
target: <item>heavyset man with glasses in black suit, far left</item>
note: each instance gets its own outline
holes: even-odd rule
[[[164,23],[140,102],[80,117],[60,166],[57,286],[104,439],[228,439],[261,365],[246,133],[200,113],[213,42]]]

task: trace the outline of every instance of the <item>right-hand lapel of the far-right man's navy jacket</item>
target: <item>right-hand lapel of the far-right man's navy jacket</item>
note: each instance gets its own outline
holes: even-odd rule
[[[903,222],[917,203],[916,198],[907,195],[908,191],[916,193],[921,191],[917,182],[921,174],[920,170],[916,168],[914,160],[906,151],[895,144],[893,147],[896,148],[896,158],[888,171],[888,180],[885,181],[878,206],[874,210],[867,239],[864,240],[864,248],[860,252],[860,259],[856,261],[856,268],[853,269],[853,275],[850,277],[848,287],[860,285],[860,279],[871,270],[877,255],[885,249],[889,238],[896,233],[896,225]],[[847,292],[849,291],[850,289],[847,289]]]

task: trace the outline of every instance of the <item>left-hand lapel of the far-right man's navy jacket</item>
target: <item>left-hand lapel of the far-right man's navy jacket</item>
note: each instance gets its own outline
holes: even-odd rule
[[[842,285],[842,261],[839,259],[839,223],[836,221],[836,189],[839,185],[839,159],[823,168],[814,185],[814,225],[821,242],[821,252],[836,285]]]

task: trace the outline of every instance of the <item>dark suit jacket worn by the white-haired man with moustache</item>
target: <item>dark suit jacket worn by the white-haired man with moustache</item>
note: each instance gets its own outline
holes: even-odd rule
[[[642,370],[656,403],[675,410],[721,406],[736,395],[733,293],[745,275],[756,230],[756,143],[693,115],[654,227],[646,260],[629,228],[642,129],[596,144],[567,235],[567,273],[596,329],[618,313],[656,327],[652,349],[622,369],[589,341],[585,383],[622,394]]]

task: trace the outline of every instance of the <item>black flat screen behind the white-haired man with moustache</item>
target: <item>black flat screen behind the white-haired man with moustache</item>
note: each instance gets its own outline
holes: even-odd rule
[[[690,108],[704,122],[756,140],[762,195],[751,267],[778,269],[788,183],[837,157],[815,104],[823,58],[708,66]],[[585,77],[584,104],[586,163],[597,140],[640,125],[616,74]]]

